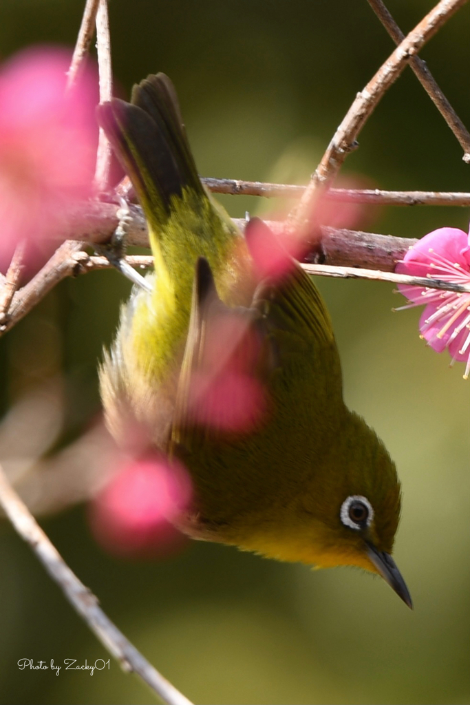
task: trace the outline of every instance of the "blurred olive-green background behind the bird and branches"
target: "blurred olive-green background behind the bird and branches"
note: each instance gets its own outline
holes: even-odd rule
[[[431,0],[390,0],[404,31]],[[0,54],[30,43],[73,44],[78,0],[3,0]],[[122,94],[165,71],[180,94],[204,176],[306,180],[355,93],[392,43],[365,0],[113,0],[113,66]],[[470,7],[423,58],[470,125]],[[392,86],[346,172],[381,188],[470,190],[470,166],[412,72]],[[266,201],[224,197],[233,216]],[[274,206],[276,207],[276,206]],[[466,209],[370,209],[376,232],[421,237],[466,230]],[[197,703],[466,704],[470,702],[469,382],[418,337],[417,310],[388,284],[318,282],[335,326],[347,403],[399,468],[404,508],[395,558],[410,612],[357,570],[312,572],[233,548],[189,543],[154,562],[106,555],[75,506],[45,530],[145,656]],[[99,414],[97,362],[128,285],[98,272],[63,282],[1,340],[4,412],[61,369],[63,443]],[[18,450],[20,452],[20,448]],[[0,531],[0,699],[4,703],[149,703],[111,661],[94,673],[19,670],[20,658],[109,658],[8,525]]]

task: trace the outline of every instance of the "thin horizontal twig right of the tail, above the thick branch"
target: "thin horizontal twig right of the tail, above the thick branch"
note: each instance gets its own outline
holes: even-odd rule
[[[287,183],[244,181],[204,176],[202,183],[213,193],[264,196],[266,198],[299,198],[307,186]],[[332,201],[370,203],[392,206],[470,206],[470,193],[461,191],[385,191],[374,189],[330,188],[325,197]]]

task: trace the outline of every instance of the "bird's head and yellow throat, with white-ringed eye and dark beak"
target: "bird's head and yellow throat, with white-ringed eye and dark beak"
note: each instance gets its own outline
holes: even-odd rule
[[[276,522],[264,523],[243,547],[316,568],[369,570],[411,608],[391,556],[401,508],[395,463],[364,419],[349,410],[340,435],[321,464],[315,459],[310,482],[294,489],[292,501],[279,505]]]

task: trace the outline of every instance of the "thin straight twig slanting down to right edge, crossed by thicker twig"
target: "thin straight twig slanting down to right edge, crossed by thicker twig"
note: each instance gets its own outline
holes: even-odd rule
[[[376,13],[376,16],[379,20],[381,20],[385,30],[387,30],[390,37],[392,37],[395,44],[400,44],[400,42],[404,39],[404,34],[392,18],[390,11],[385,7],[382,0],[368,0],[368,2],[373,11]],[[420,59],[419,56],[413,56],[413,58],[409,61],[409,65],[411,66],[414,75],[416,75],[416,78],[418,78],[424,90],[445,119],[447,125],[449,125],[455,137],[457,137],[459,145],[464,150],[464,156],[462,159],[466,162],[466,164],[470,164],[469,132],[464,123],[462,123],[462,120],[452,108],[452,105],[447,100],[442,90],[440,90],[435,78],[431,75],[431,71],[429,71],[428,66],[426,65],[426,61]]]

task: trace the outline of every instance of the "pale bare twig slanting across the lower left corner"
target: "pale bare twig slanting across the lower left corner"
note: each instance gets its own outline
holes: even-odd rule
[[[137,651],[98,605],[97,597],[78,580],[47,538],[0,467],[0,505],[20,537],[30,545],[53,580],[76,612],[85,620],[101,644],[116,658],[124,670],[134,671],[168,705],[191,705],[191,702]]]

